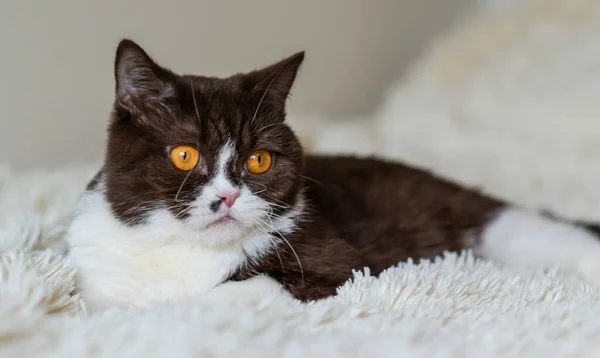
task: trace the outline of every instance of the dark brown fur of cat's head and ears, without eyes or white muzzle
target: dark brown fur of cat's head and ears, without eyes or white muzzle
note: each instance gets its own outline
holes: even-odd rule
[[[104,167],[116,215],[133,224],[162,206],[185,219],[199,188],[214,177],[217,155],[228,141],[236,150],[227,163],[227,178],[235,186],[245,182],[265,200],[291,206],[302,185],[302,148],[283,121],[303,59],[300,52],[228,78],[177,75],[123,40],[115,60],[115,104]],[[201,154],[201,163],[190,172],[170,162],[170,148],[181,144]],[[257,149],[272,152],[274,163],[268,172],[252,175],[244,171],[244,162]]]

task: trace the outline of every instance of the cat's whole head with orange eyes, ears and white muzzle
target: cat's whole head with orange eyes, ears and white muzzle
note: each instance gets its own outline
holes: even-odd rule
[[[302,148],[283,121],[303,57],[225,79],[179,76],[123,41],[104,168],[115,215],[144,225],[169,213],[215,246],[273,232],[299,205]]]

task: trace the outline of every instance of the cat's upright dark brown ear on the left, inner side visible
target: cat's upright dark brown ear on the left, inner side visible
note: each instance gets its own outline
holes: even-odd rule
[[[131,113],[156,108],[174,95],[173,74],[127,39],[117,48],[115,83],[116,105]]]

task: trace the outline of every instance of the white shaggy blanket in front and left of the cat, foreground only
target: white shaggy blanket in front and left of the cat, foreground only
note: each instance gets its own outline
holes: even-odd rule
[[[0,179],[1,357],[598,356],[600,291],[469,253],[356,272],[327,300],[202,297],[88,316],[60,237],[93,170]],[[54,247],[56,249],[49,249]]]

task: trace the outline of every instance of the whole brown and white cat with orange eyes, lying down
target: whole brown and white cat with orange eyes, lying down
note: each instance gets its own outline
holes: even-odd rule
[[[380,273],[465,248],[600,281],[592,228],[402,164],[305,156],[284,122],[303,59],[228,78],[183,76],[120,43],[105,163],[68,234],[91,308],[219,290],[320,299],[353,269]]]

